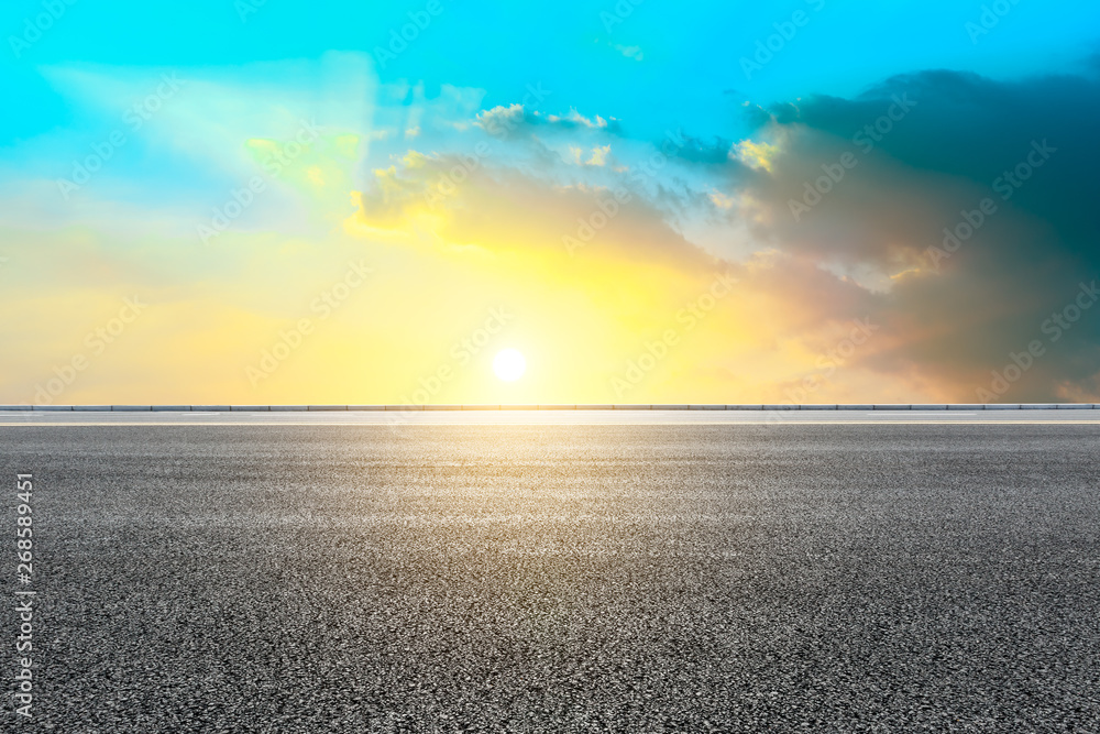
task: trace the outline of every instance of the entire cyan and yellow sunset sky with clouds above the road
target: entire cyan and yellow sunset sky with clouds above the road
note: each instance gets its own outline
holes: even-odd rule
[[[882,6],[9,2],[0,403],[1100,403],[1100,7]]]

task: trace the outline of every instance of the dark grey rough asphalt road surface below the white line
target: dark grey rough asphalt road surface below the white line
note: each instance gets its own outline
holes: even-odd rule
[[[1100,426],[0,427],[34,719],[1100,731]]]

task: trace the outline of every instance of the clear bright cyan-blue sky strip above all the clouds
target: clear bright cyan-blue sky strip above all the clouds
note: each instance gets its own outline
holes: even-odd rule
[[[372,53],[389,32],[422,12],[425,2],[317,2],[308,8],[271,0],[254,12],[230,0],[198,0],[186,11],[138,2],[62,2],[64,14],[20,57],[0,61],[13,109],[0,141],[13,144],[57,125],[79,123],[42,78],[58,64],[201,68],[256,61],[317,58],[337,51]],[[1094,53],[1094,3],[1005,2],[1011,10],[976,35],[982,9],[994,3],[946,0],[878,3],[700,2],[691,8],[645,0],[569,2],[546,9],[505,2],[444,2],[429,25],[386,68],[382,81],[482,88],[490,107],[519,99],[541,81],[560,100],[592,114],[629,120],[639,133],[683,124],[697,135],[727,133],[736,105],[768,105],[810,94],[851,96],[893,74],[949,68],[1009,78],[1075,70]],[[629,14],[622,9],[629,8]],[[1000,8],[999,8],[1000,9]],[[809,22],[747,79],[740,59],[757,42],[802,11]],[[42,2],[4,11],[6,36],[22,37]],[[242,13],[244,21],[242,21]],[[622,22],[606,28],[610,15]],[[977,40],[977,43],[972,39]],[[7,46],[11,46],[11,41]],[[640,48],[642,59],[615,46]],[[648,62],[648,63],[647,63]]]

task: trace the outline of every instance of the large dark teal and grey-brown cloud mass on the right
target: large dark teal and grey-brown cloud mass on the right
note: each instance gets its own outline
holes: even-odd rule
[[[891,335],[866,366],[974,401],[1038,342],[1043,354],[999,399],[1100,402],[1100,303],[1080,287],[1100,278],[1096,74],[923,72],[854,99],[748,113],[782,141],[770,175],[732,177],[763,213],[754,232],[800,261],[862,274],[870,289],[857,308]],[[945,228],[957,240],[945,244]],[[1078,303],[1090,308],[1069,321]]]

